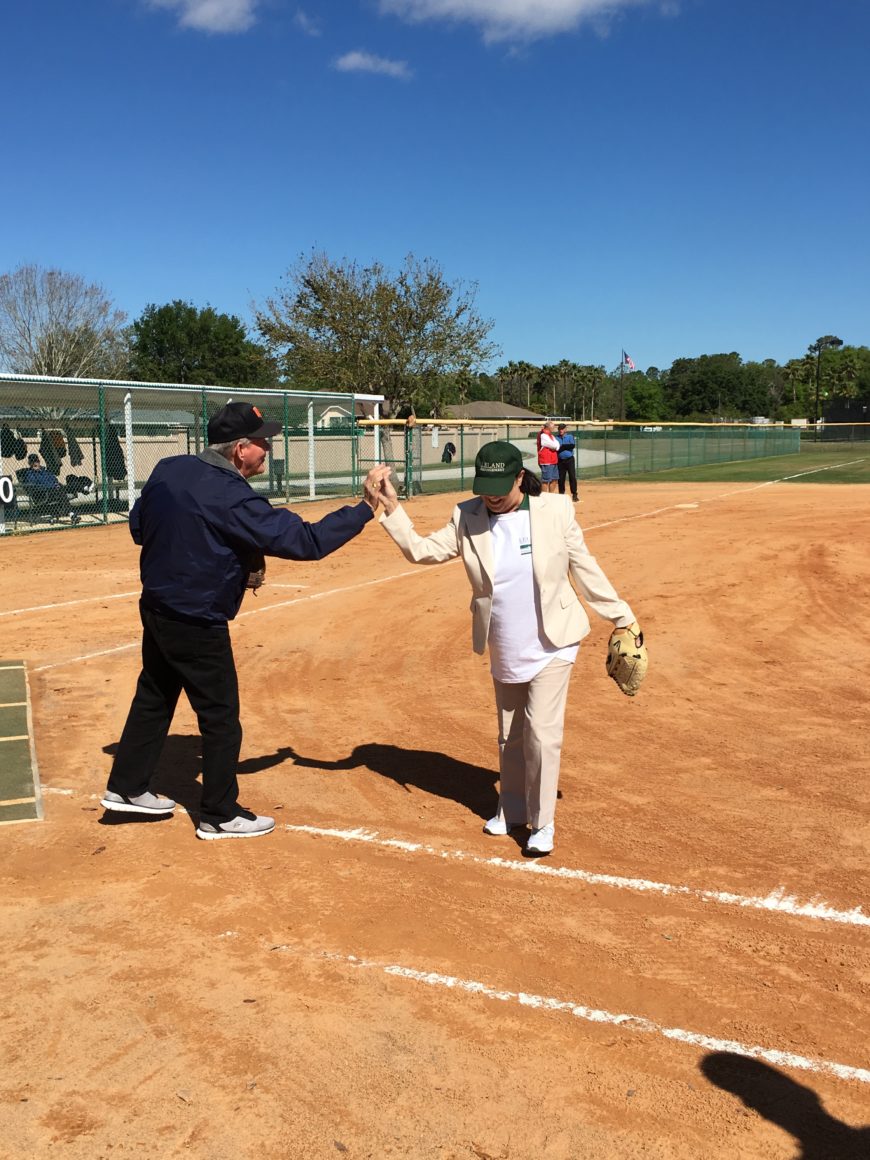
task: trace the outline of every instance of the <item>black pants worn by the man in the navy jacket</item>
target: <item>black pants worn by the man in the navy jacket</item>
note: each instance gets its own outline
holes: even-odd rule
[[[121,734],[109,789],[125,797],[148,788],[183,689],[202,733],[202,815],[239,812],[239,681],[230,630],[171,621],[142,608],[142,673]]]

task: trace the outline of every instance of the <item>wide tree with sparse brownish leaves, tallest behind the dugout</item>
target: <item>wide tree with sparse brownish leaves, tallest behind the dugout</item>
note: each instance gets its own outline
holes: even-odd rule
[[[495,354],[476,288],[449,282],[413,255],[393,273],[325,253],[302,255],[277,292],[255,307],[256,326],[295,386],[386,396],[421,414],[444,375]]]

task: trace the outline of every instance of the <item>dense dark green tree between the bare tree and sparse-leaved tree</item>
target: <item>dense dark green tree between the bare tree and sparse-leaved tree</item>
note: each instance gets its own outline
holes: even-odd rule
[[[274,358],[234,314],[193,303],[148,305],[130,336],[130,377],[148,383],[216,386],[277,385]]]

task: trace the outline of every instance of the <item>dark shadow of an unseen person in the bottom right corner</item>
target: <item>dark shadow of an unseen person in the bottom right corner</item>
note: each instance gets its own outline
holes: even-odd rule
[[[800,1144],[795,1160],[868,1160],[870,1126],[850,1128],[828,1115],[812,1088],[759,1059],[730,1051],[706,1056],[701,1071],[747,1108],[782,1128]]]

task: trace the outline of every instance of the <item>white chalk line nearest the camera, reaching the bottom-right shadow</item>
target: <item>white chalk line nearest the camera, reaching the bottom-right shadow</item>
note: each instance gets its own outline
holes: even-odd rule
[[[276,948],[277,949],[277,948]],[[282,950],[284,948],[281,948]],[[290,949],[289,947],[287,948]],[[870,1083],[870,1071],[864,1067],[853,1067],[849,1064],[838,1064],[827,1059],[812,1059],[807,1056],[798,1056],[791,1051],[781,1051],[777,1047],[762,1047],[757,1044],[739,1043],[737,1039],[718,1039],[710,1035],[701,1035],[697,1031],[687,1031],[680,1027],[665,1027],[646,1018],[644,1015],[630,1015],[602,1010],[599,1007],[587,1007],[573,1000],[551,999],[545,995],[529,994],[524,991],[503,991],[499,987],[491,987],[476,979],[459,979],[452,974],[438,974],[436,971],[416,971],[409,966],[401,966],[397,963],[377,963],[371,959],[358,958],[356,955],[338,955],[322,951],[317,958],[325,958],[334,963],[348,963],[351,966],[369,971],[380,971],[393,978],[408,979],[413,983],[422,983],[428,987],[444,987],[448,991],[464,992],[469,995],[480,995],[484,999],[495,999],[503,1003],[517,1003],[520,1007],[530,1007],[535,1010],[557,1012],[558,1014],[572,1015],[587,1023],[603,1023],[610,1027],[618,1027],[626,1031],[639,1031],[646,1035],[661,1036],[665,1039],[674,1039],[677,1043],[686,1043],[694,1047],[703,1047],[705,1051],[728,1051],[732,1054],[745,1056],[748,1059],[763,1059],[764,1063],[774,1064],[777,1067],[790,1067],[800,1072],[817,1072],[834,1075],[840,1080],[855,1080],[858,1083]]]

